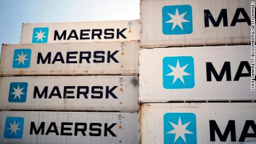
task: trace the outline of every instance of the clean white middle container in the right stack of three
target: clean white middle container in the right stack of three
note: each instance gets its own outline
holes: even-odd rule
[[[141,102],[254,101],[250,46],[142,48]]]

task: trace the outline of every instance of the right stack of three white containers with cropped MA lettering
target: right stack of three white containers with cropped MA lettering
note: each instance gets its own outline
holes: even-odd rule
[[[141,143],[256,143],[250,1],[140,6]]]

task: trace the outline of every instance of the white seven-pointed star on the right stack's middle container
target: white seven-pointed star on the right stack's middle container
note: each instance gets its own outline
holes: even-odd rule
[[[189,64],[186,64],[185,66],[183,67],[180,67],[180,63],[179,63],[179,59],[176,63],[176,67],[173,67],[171,66],[170,64],[168,64],[168,66],[171,68],[171,70],[173,70],[172,72],[168,73],[166,76],[174,76],[174,80],[173,80],[173,84],[176,82],[176,80],[179,80],[181,82],[184,83],[184,79],[183,79],[183,76],[190,76],[191,74],[190,73],[187,73],[187,72],[184,72],[184,70],[186,69],[186,67],[188,66]],[[185,84],[185,83],[184,83]]]

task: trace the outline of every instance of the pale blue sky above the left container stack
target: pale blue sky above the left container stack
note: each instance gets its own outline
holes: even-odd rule
[[[0,44],[19,43],[22,23],[139,18],[139,0],[0,0]]]

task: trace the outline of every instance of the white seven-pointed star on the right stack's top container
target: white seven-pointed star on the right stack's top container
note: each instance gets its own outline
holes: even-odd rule
[[[179,14],[178,8],[176,8],[175,15],[168,13],[168,15],[171,17],[171,19],[165,23],[173,23],[173,28],[171,28],[172,31],[176,26],[179,26],[183,30],[182,23],[190,22],[190,21],[184,19],[184,16],[186,13],[187,12],[185,12],[183,14]]]

